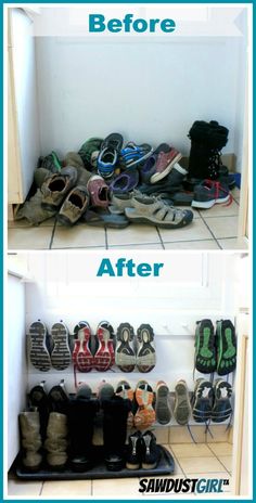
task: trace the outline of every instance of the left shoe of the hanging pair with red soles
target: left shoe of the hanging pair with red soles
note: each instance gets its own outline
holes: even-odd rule
[[[91,352],[91,327],[87,321],[79,321],[74,328],[76,336],[72,360],[79,372],[90,372],[94,365]]]

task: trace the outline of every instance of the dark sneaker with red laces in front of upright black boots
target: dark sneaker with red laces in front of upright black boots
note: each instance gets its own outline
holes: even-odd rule
[[[232,196],[229,186],[218,181],[204,180],[194,188],[193,208],[207,209],[215,204],[231,203]]]

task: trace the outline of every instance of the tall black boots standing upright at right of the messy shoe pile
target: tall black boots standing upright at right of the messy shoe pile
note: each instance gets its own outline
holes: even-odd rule
[[[191,150],[189,180],[217,180],[222,166],[220,152],[228,141],[229,130],[216,120],[195,120],[189,132]],[[194,183],[194,184],[195,184]]]

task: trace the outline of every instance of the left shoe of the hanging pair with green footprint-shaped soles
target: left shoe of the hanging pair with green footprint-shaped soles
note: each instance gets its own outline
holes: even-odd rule
[[[195,369],[202,374],[216,371],[216,348],[214,325],[210,320],[196,322]]]

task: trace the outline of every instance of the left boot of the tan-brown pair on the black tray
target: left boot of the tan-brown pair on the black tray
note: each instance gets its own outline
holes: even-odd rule
[[[22,463],[29,472],[37,472],[42,462],[39,412],[22,412],[18,415]]]

